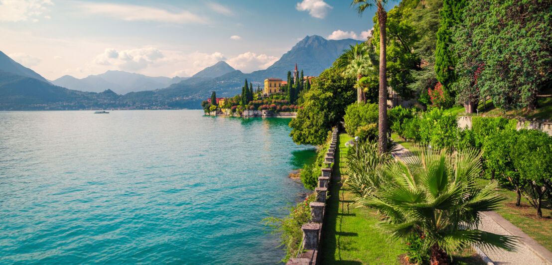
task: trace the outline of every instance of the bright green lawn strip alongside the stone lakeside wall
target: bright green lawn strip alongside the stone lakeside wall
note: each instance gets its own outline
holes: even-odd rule
[[[349,140],[347,134],[339,135],[335,177],[347,177],[342,175],[346,165],[340,153],[347,151],[344,144]],[[381,218],[371,208],[358,208],[347,185],[332,179],[322,231],[322,264],[404,264],[399,256],[406,254],[406,248],[378,229]],[[453,257],[453,264],[485,264],[472,250]]]

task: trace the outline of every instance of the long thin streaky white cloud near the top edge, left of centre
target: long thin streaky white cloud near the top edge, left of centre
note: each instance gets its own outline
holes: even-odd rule
[[[171,13],[167,10],[134,6],[131,4],[84,3],[81,6],[89,13],[105,14],[126,21],[156,21],[175,24],[205,24],[206,19],[186,10]]]

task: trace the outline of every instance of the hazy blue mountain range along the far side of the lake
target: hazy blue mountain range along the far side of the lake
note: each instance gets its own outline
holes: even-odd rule
[[[243,73],[220,61],[189,78],[107,71],[82,79],[63,76],[51,83],[0,52],[0,109],[199,109],[201,100],[212,91],[219,97],[235,96],[241,93],[245,78],[262,87],[266,78],[285,79],[295,63],[305,76],[317,76],[349,45],[360,42],[306,36],[272,66],[252,73]]]

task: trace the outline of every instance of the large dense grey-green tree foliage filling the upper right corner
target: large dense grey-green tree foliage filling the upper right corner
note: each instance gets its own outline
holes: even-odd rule
[[[488,96],[502,109],[537,107],[552,76],[551,28],[550,1],[468,1],[453,28],[457,102]]]

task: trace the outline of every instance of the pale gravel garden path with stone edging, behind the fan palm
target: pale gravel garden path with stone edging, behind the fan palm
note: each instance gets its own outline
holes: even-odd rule
[[[397,148],[391,152],[391,155],[396,159],[404,160],[412,154],[405,149],[404,146],[398,145]],[[494,211],[481,213],[481,224],[478,228],[482,231],[494,234],[519,237],[517,242],[518,250],[516,252],[487,249],[481,250],[484,253],[482,256],[486,255],[491,261],[487,264],[552,265],[552,252],[546,250],[546,248],[541,246],[537,241],[533,240],[518,227],[514,226],[511,222],[502,218],[500,214],[497,214]]]

